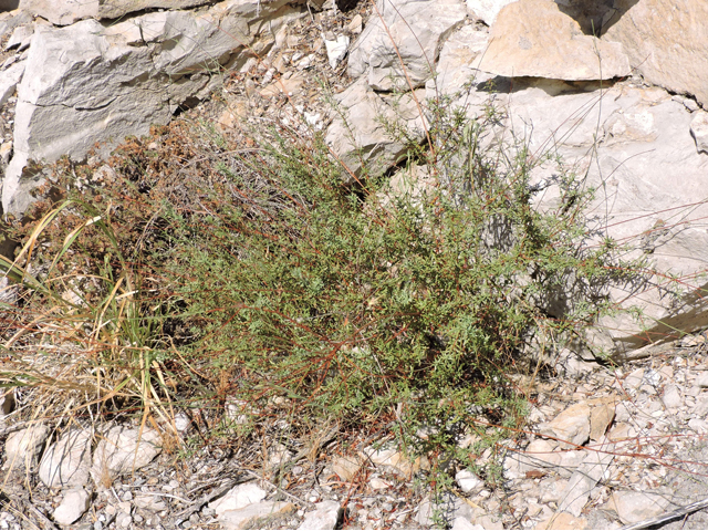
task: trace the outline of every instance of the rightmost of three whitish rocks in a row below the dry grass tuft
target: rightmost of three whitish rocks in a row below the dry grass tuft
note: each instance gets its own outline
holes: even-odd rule
[[[98,438],[91,472],[96,482],[106,473],[110,478],[131,473],[148,465],[160,451],[156,430],[114,426]]]

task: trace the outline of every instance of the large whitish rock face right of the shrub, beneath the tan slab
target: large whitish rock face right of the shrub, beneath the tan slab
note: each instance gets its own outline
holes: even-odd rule
[[[631,244],[632,256],[646,258],[648,268],[658,272],[654,278],[647,274],[645,283],[637,279],[638,284],[608,289],[613,301],[624,308],[635,305],[644,317],[625,312],[603,317],[597,327],[586,329],[587,340],[622,361],[647,342],[665,340],[677,330],[699,329],[708,308],[690,290],[669,289],[660,273],[693,278],[708,259],[702,252],[708,249],[702,221],[708,205],[696,205],[697,197],[708,196],[706,157],[696,153],[688,134],[693,114],[662,88],[622,84],[604,90],[601,98],[593,84],[571,87],[560,81],[518,80],[514,86],[507,111],[516,137],[527,138],[534,153],[561,154],[577,175],[586,170],[585,184],[597,189],[589,205],[597,216],[596,227]],[[593,145],[596,158],[587,156]],[[552,171],[549,168],[539,178],[543,183],[548,177],[548,186],[533,197],[534,206],[548,212],[558,211],[562,196]],[[671,186],[667,175],[676,176]],[[674,214],[665,219],[657,212],[666,209]],[[572,290],[561,293],[561,300],[572,298]],[[550,313],[562,314],[563,304],[550,306]]]

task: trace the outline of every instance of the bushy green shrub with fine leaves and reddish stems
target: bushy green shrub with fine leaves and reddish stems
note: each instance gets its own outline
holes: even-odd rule
[[[449,449],[479,414],[516,425],[506,374],[532,336],[562,341],[610,310],[623,268],[612,242],[590,244],[593,190],[560,167],[559,206],[538,211],[531,171],[549,157],[494,136],[498,110],[427,108],[430,144],[400,168],[424,178],[345,185],[320,135],[271,129],[219,167],[228,195],[166,215],[165,274],[198,337],[185,348],[235,369],[239,399],[397,420],[403,440]],[[579,299],[552,316],[564,287]]]

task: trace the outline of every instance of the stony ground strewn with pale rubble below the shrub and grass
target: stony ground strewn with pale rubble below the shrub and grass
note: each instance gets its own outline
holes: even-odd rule
[[[456,480],[437,490],[424,481],[426,458],[410,461],[385,436],[336,426],[303,447],[292,426],[277,420],[268,447],[229,448],[210,445],[186,412],[178,427],[198,449],[184,456],[157,455],[155,431],[138,436],[139,426],[105,445],[121,430],[100,434],[87,424],[52,434],[14,423],[10,413],[1,431],[0,528],[620,529],[648,520],[644,528],[705,529],[706,336],[620,367],[563,365],[562,376],[514,377],[532,405],[529,425],[477,456],[502,464],[500,481],[450,464]],[[18,406],[27,407],[22,399]],[[469,433],[460,445],[473,455],[478,437]]]

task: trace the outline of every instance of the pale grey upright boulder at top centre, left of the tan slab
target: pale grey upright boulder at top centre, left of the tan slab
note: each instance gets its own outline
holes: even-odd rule
[[[348,74],[365,76],[375,91],[408,91],[405,70],[413,87],[421,86],[435,73],[445,39],[465,20],[465,4],[460,0],[378,0],[377,8],[383,22],[376,13],[371,17],[352,45]]]

